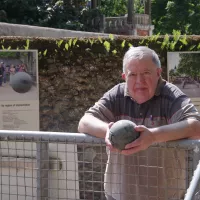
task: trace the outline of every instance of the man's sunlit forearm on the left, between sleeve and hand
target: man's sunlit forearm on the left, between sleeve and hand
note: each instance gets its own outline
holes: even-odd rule
[[[92,115],[86,114],[79,122],[78,131],[95,137],[105,138],[107,127],[108,123],[105,123]]]

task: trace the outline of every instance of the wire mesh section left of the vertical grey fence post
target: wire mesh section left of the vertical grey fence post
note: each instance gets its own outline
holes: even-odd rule
[[[0,148],[0,199],[34,199],[37,196],[35,143],[1,141]]]

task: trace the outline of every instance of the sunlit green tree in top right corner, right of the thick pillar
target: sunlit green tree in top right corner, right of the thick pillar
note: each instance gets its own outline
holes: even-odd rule
[[[199,0],[152,0],[155,34],[171,34],[173,30],[180,30],[182,34],[200,34],[199,17]]]

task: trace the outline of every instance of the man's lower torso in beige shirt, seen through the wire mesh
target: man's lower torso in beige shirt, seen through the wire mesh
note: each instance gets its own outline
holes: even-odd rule
[[[108,195],[115,199],[183,199],[188,179],[187,150],[151,147],[135,155],[115,156],[107,172]]]

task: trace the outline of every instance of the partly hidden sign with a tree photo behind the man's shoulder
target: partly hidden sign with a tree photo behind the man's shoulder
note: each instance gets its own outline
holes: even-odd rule
[[[168,81],[181,89],[200,111],[200,52],[168,52]]]

